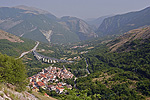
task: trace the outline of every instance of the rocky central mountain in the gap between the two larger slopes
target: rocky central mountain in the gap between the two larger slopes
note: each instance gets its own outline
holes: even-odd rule
[[[79,18],[64,16],[61,18],[60,23],[68,30],[76,33],[80,40],[87,40],[97,37],[92,28],[85,21]]]

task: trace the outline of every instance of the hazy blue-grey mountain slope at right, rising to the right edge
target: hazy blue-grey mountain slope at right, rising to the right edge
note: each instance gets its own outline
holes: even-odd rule
[[[99,36],[122,34],[129,30],[150,25],[150,7],[106,18],[97,30]]]

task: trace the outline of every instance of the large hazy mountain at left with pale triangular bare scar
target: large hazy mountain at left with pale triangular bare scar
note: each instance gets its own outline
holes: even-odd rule
[[[53,14],[33,7],[0,7],[0,29],[16,36],[47,43],[78,42],[80,39],[87,39],[85,37],[93,37],[93,33],[76,33],[61,22]],[[86,27],[82,28],[87,30],[84,29]]]

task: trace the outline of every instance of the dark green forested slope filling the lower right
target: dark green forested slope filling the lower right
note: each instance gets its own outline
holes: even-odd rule
[[[123,52],[129,46],[132,49]],[[107,100],[146,99],[150,96],[150,38],[128,42],[118,51],[110,52],[101,44],[84,54],[92,74],[77,80],[78,89]]]

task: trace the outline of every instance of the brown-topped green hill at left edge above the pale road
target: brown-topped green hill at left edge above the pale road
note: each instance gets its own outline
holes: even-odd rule
[[[35,46],[35,41],[17,37],[0,30],[0,52],[18,57],[22,52],[29,51]]]

